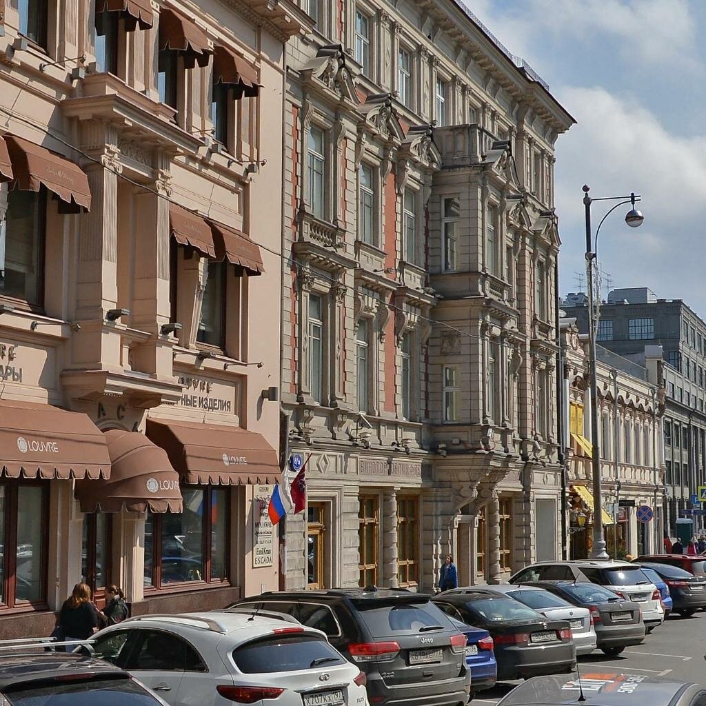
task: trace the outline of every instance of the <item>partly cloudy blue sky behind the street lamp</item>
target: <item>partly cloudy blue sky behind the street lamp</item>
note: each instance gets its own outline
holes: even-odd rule
[[[585,272],[582,185],[635,191],[645,222],[627,227],[629,206],[608,217],[604,273],[706,319],[706,1],[464,1],[578,122],[556,142],[561,293]],[[594,227],[610,205],[592,205]]]

